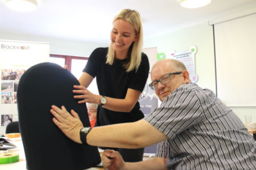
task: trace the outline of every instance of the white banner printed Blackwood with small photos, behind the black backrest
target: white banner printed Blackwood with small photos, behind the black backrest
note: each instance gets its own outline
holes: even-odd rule
[[[31,66],[49,61],[49,43],[0,40],[0,45],[0,134],[5,134],[6,126],[18,121],[16,92],[19,79]]]

